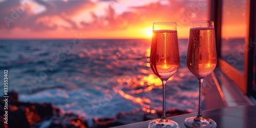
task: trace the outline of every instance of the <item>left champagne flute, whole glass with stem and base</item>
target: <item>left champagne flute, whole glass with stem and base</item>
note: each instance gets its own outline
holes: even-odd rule
[[[166,82],[177,72],[180,66],[177,25],[175,22],[153,24],[150,66],[154,74],[162,80],[163,111],[162,117],[151,121],[148,127],[179,127],[175,121],[166,119],[165,114]]]

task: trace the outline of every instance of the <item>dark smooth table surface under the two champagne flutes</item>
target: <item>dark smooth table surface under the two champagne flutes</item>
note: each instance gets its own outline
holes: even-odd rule
[[[255,128],[256,127],[256,105],[232,106],[216,110],[202,112],[204,117],[211,118],[217,123],[217,127]],[[197,113],[189,113],[174,117],[168,117],[177,122],[181,128],[185,128],[184,120],[187,117],[197,116]],[[149,121],[116,126],[115,128],[148,127]]]

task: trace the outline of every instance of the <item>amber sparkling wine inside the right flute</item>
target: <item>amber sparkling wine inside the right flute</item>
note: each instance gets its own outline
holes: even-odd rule
[[[209,75],[217,65],[214,28],[191,28],[187,68],[198,78]]]

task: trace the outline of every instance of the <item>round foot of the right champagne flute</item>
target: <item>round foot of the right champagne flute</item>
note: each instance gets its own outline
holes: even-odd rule
[[[197,128],[197,127],[210,127],[215,128],[217,124],[214,120],[206,117],[188,117],[185,119],[184,124],[188,128]]]

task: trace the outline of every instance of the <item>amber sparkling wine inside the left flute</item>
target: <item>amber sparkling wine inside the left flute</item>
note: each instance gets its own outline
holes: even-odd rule
[[[167,80],[177,72],[180,58],[176,30],[153,31],[150,65],[162,80]]]

